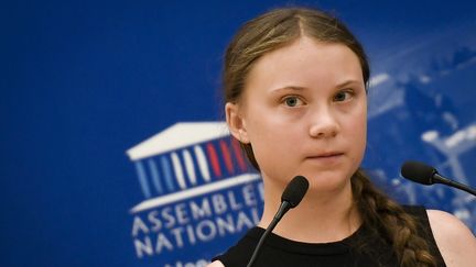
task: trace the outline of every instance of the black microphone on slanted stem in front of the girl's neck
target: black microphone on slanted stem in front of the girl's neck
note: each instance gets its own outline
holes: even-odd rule
[[[264,234],[261,235],[261,238],[258,242],[258,245],[255,248],[255,252],[248,262],[247,267],[251,267],[256,259],[258,258],[260,248],[262,244],[264,243],[264,240],[273,231],[275,225],[279,221],[283,218],[283,215],[290,210],[295,208],[301,200],[304,198],[304,194],[306,193],[309,188],[309,181],[304,176],[296,176],[294,177],[290,183],[288,183],[286,188],[284,189],[282,196],[281,196],[281,205],[278,209],[278,212],[274,214],[273,220],[268,225],[267,230],[264,231]]]

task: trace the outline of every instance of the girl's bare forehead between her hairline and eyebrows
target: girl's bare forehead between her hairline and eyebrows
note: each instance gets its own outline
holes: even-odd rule
[[[304,36],[259,58],[248,74],[245,94],[283,86],[332,87],[345,80],[364,84],[357,55],[344,44]]]

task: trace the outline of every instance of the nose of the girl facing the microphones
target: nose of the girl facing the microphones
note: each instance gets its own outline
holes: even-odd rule
[[[335,137],[339,126],[335,115],[328,108],[323,108],[311,115],[310,136],[313,138]]]

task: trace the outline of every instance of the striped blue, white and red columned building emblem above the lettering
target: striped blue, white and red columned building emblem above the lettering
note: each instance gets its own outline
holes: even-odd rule
[[[259,179],[225,122],[181,122],[127,151],[144,200],[132,213]]]

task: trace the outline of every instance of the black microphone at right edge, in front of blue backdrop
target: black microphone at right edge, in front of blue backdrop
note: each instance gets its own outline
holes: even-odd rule
[[[401,175],[412,181],[431,186],[433,183],[443,183],[466,191],[476,197],[476,190],[461,182],[450,180],[441,176],[437,170],[426,164],[409,160],[401,167]]]

